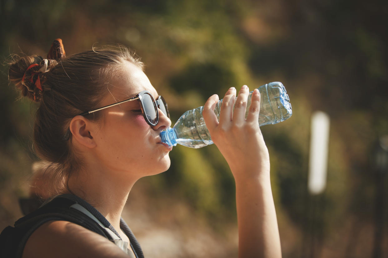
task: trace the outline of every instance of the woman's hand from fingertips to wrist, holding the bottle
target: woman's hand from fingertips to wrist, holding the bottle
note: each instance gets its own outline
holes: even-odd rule
[[[242,86],[235,104],[236,89],[230,88],[222,101],[219,122],[214,113],[217,95],[211,96],[203,108],[203,118],[211,139],[228,162],[234,178],[243,181],[269,177],[270,171],[268,150],[258,122],[260,92],[258,89],[253,91],[249,114],[245,119],[248,95],[248,87]]]

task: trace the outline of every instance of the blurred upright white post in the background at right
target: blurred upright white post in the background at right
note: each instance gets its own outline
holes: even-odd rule
[[[307,183],[308,191],[312,195],[318,195],[326,188],[329,127],[330,119],[326,113],[316,111],[312,115]]]

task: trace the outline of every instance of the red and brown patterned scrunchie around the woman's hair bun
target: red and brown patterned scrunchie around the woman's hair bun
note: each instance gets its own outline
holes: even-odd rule
[[[59,62],[66,56],[63,48],[62,39],[55,39],[51,44],[47,59],[43,59],[39,64],[34,63],[30,65],[22,78],[22,84],[29,92],[33,92],[34,101],[39,102],[42,98],[43,87],[46,80],[46,72],[49,72],[52,62],[55,60]]]

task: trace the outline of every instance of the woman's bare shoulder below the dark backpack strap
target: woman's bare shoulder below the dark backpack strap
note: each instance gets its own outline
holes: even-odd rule
[[[28,238],[23,258],[30,257],[128,257],[99,234],[64,220],[51,220]]]

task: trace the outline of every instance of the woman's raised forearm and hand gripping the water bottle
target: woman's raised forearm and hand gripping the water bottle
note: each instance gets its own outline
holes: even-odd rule
[[[281,257],[279,229],[270,184],[267,147],[259,128],[260,93],[253,91],[245,119],[249,89],[242,86],[236,105],[236,89],[225,94],[220,121],[214,113],[218,96],[211,96],[203,118],[211,139],[225,157],[236,181],[239,257]]]

